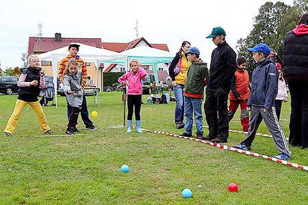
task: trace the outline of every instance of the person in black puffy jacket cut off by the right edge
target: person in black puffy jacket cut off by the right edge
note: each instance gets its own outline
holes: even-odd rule
[[[283,77],[291,94],[289,143],[308,148],[308,14],[287,33],[284,53]]]

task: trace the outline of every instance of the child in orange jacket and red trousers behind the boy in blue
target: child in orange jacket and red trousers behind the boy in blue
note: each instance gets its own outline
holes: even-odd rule
[[[249,74],[246,70],[247,61],[244,57],[239,57],[236,59],[236,64],[238,69],[235,71],[231,91],[229,94],[229,122],[232,120],[238,105],[241,107],[241,124],[243,126],[243,131],[248,132],[249,129],[249,113],[246,109],[247,100],[251,90],[249,90]]]

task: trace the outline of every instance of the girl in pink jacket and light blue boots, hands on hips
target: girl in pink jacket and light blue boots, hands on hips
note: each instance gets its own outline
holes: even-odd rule
[[[127,133],[131,133],[131,120],[133,120],[133,106],[135,105],[135,120],[136,130],[138,133],[142,133],[141,120],[140,120],[140,108],[142,102],[142,79],[146,77],[146,71],[140,67],[140,62],[136,59],[132,59],[129,62],[131,70],[118,81],[119,83],[127,86]]]

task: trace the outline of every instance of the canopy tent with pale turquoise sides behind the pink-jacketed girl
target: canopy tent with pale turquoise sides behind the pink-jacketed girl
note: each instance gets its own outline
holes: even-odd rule
[[[126,59],[116,59],[114,61],[107,61],[113,64],[125,64],[129,70],[129,61],[131,59],[138,59],[142,65],[153,66],[155,76],[155,83],[158,84],[157,64],[168,63],[175,57],[175,53],[154,49],[149,46],[137,46],[136,48],[123,51],[119,54],[127,56]]]

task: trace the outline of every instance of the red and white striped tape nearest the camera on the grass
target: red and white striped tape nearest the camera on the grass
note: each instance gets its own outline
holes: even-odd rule
[[[267,159],[268,161],[274,161],[274,162],[277,162],[277,163],[281,163],[283,165],[288,165],[290,167],[296,167],[298,169],[303,169],[303,170],[308,171],[308,167],[305,166],[305,165],[298,165],[298,164],[292,163],[290,161],[276,159],[274,157],[266,156],[264,154],[258,154],[258,153],[255,153],[255,152],[250,152],[250,151],[246,151],[246,150],[240,150],[240,149],[237,149],[237,148],[232,148],[230,146],[225,146],[225,145],[219,144],[219,143],[213,143],[213,142],[205,141],[205,140],[202,140],[202,139],[196,139],[196,138],[192,138],[192,137],[183,137],[181,135],[175,135],[175,134],[166,133],[166,132],[163,132],[163,131],[150,131],[150,130],[147,130],[147,129],[144,129],[144,128],[142,128],[142,131],[146,131],[146,132],[149,132],[149,133],[161,134],[161,135],[168,135],[168,136],[171,136],[171,137],[183,138],[183,139],[188,139],[188,140],[192,140],[192,141],[198,141],[198,142],[201,142],[201,143],[205,143],[209,146],[214,146],[214,147],[220,148],[222,150],[238,152],[238,153],[246,154],[246,155],[249,155],[249,156],[258,156],[260,158]]]

